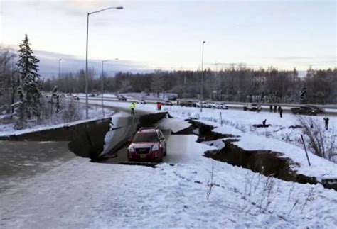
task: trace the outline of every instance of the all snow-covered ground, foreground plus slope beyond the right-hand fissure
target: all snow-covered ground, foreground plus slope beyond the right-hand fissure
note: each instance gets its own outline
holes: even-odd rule
[[[105,105],[129,108],[129,103]],[[218,126],[215,129],[218,132],[240,135],[240,147],[261,150],[264,145],[264,148],[284,152],[291,159],[302,160],[302,151],[292,158],[291,154],[301,150],[296,144],[250,128],[265,118],[272,128],[294,125],[296,118],[293,116],[285,114],[284,118],[279,118],[274,113],[221,111],[226,120],[221,126],[220,111],[204,109],[200,113],[196,108],[164,106],[164,111],[166,109],[172,116],[198,117],[200,121]],[[137,111],[155,112],[156,108],[150,104],[139,105]],[[331,123],[336,123],[336,118],[331,118]],[[203,157],[203,152],[211,147],[196,143],[193,135],[173,147],[171,150],[177,152],[176,156],[179,151],[186,154],[173,166],[164,163],[154,169],[98,164],[75,157],[46,173],[21,181],[9,191],[0,193],[0,227],[337,227],[336,191],[324,189],[321,184],[296,184],[264,177]],[[289,147],[289,152],[284,147]],[[312,161],[313,164],[320,162],[316,158]],[[336,164],[328,164],[326,160],[320,163],[320,169],[313,167],[316,172],[326,167],[336,168]],[[303,164],[301,169],[310,168]]]

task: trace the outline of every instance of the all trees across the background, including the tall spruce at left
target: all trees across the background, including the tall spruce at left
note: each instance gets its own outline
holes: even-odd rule
[[[85,91],[85,71],[68,72],[59,77],[45,78],[38,74],[38,58],[33,55],[27,35],[14,50],[0,47],[0,115],[9,114],[16,128],[25,128],[28,121],[42,121],[63,114],[59,91]],[[203,79],[203,94],[201,91]],[[337,69],[312,69],[299,77],[296,69],[279,70],[274,67],[252,69],[245,64],[214,71],[156,70],[151,73],[118,72],[115,76],[95,73],[89,69],[90,93],[171,92],[181,99],[209,99],[217,101],[337,104]],[[50,99],[41,91],[52,92]],[[68,106],[63,104],[63,106]],[[69,105],[71,106],[71,104]],[[67,109],[63,109],[67,110]],[[74,108],[68,109],[76,113]],[[71,114],[71,117],[74,115]]]

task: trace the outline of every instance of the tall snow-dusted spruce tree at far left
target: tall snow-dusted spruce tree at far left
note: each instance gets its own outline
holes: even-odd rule
[[[23,96],[26,96],[26,114],[27,118],[40,119],[41,114],[41,85],[39,82],[40,75],[38,74],[38,60],[33,55],[31,50],[31,44],[28,41],[28,36],[22,41],[22,44],[18,45],[18,66],[19,74],[21,77],[21,89],[23,90]]]

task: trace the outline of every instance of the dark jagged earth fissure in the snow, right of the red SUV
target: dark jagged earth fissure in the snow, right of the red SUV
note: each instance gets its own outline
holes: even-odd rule
[[[281,152],[270,150],[244,150],[233,144],[235,139],[233,135],[226,135],[213,132],[213,126],[205,125],[198,121],[191,121],[193,128],[198,129],[198,135],[201,140],[225,140],[225,147],[216,154],[207,155],[220,162],[227,162],[238,167],[244,167],[259,172],[265,176],[276,177],[284,181],[294,181],[301,184],[322,184],[327,189],[337,191],[337,179],[323,179],[319,181],[316,177],[307,177],[303,174],[296,174],[291,167],[299,167],[299,164],[293,162],[290,158],[282,157]]]

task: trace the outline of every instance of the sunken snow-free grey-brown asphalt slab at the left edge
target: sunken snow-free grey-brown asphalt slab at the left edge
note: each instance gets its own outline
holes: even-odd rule
[[[0,192],[75,157],[68,142],[0,141]]]

